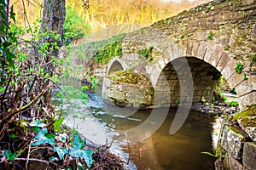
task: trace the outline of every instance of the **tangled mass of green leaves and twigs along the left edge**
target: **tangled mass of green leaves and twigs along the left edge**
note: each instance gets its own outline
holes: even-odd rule
[[[77,143],[78,139],[73,139],[74,142],[72,143],[70,142],[72,138],[67,140],[67,133],[60,133],[64,117],[55,120],[55,116],[53,116],[55,113],[50,111],[50,104],[44,96],[44,94],[49,93],[50,85],[57,80],[56,66],[63,63],[63,59],[57,59],[53,56],[56,50],[60,48],[58,44],[61,38],[55,31],[39,34],[39,27],[36,24],[29,27],[19,27],[14,24],[9,26],[9,23],[13,23],[9,21],[9,17],[15,20],[13,9],[12,7],[9,8],[3,0],[0,0],[0,7],[0,65],[2,68],[0,86],[0,128],[2,130],[0,136],[6,143],[6,147],[3,146],[2,148],[5,150],[4,156],[7,160],[14,161],[17,155],[20,156],[20,153],[25,153],[24,151],[28,149],[28,142],[32,141],[31,146],[50,144],[49,147],[53,147],[62,160],[63,156],[69,153],[68,150],[73,149],[73,143]],[[4,8],[9,8],[10,13],[6,14]],[[16,37],[23,38],[22,44],[17,41]],[[31,48],[35,54],[32,54]],[[30,56],[29,59],[28,56]],[[34,64],[37,62],[35,59],[31,59],[32,57],[38,57],[40,64]],[[51,71],[49,68],[52,68]],[[42,84],[46,84],[46,86],[44,87]],[[81,93],[80,90],[79,92]],[[78,93],[74,92],[74,94],[79,96]],[[59,94],[59,96],[63,99],[65,94]],[[82,93],[82,97],[79,96],[79,98],[85,102],[86,96]],[[24,120],[20,117],[22,112],[37,113],[39,118],[31,122],[29,118],[33,120],[34,116],[30,117],[30,114],[27,114],[28,120]],[[55,139],[58,139],[58,142],[66,142],[68,147],[57,147]],[[15,144],[17,141],[21,143]],[[90,167],[92,150],[84,150],[83,148],[80,150],[82,150],[83,155],[78,157],[83,157]],[[15,153],[13,153],[14,151]],[[51,160],[57,159],[53,156]]]

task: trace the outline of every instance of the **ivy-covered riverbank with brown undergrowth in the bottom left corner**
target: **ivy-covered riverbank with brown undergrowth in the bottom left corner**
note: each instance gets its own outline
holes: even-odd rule
[[[14,134],[5,136],[1,140],[0,169],[124,169],[125,161],[115,156],[108,145],[96,144],[64,124],[58,125],[57,131],[45,125],[38,120],[27,129],[19,129],[17,133],[22,133],[27,143],[16,152],[9,147],[18,147],[22,139]],[[39,128],[38,133],[30,127]]]

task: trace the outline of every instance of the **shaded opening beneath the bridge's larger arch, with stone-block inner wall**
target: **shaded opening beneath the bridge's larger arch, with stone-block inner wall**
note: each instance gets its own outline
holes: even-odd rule
[[[184,58],[189,64],[189,68],[183,68]],[[185,80],[181,80],[178,76],[188,75],[189,72],[192,75],[193,84],[182,82]],[[186,99],[191,98],[191,95],[193,95],[192,105],[201,105],[202,97],[206,101],[212,102],[212,99],[214,99],[212,97],[219,79],[224,79],[214,66],[195,57],[174,59],[162,69],[161,73],[164,77],[162,76],[158,78],[156,88],[154,89],[161,95],[155,97],[155,103],[164,103],[163,101],[167,101],[167,98],[170,98],[170,105],[172,107],[177,106],[178,104],[183,104],[186,102]],[[163,78],[165,78],[166,81],[162,81]],[[185,78],[186,76],[182,77],[182,79]],[[193,86],[193,93],[189,93],[186,88],[191,86]],[[227,82],[224,86],[228,86]],[[228,86],[228,88],[230,87]]]

